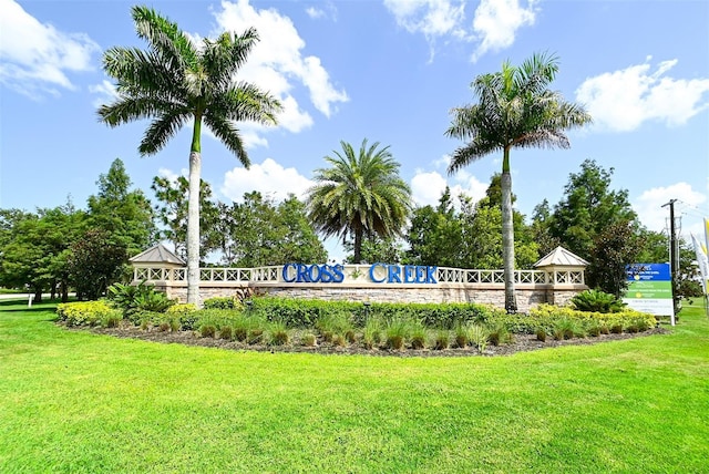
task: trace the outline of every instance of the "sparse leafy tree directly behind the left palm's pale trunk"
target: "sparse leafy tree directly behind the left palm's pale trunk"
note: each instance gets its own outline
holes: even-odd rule
[[[187,207],[189,195],[189,182],[179,176],[176,181],[163,176],[155,176],[151,189],[155,192],[158,204],[155,205],[155,215],[163,229],[160,238],[169,240],[175,246],[175,253],[181,257],[187,255]],[[203,259],[209,251],[219,248],[219,208],[212,200],[212,186],[204,179],[199,181],[199,228],[201,233],[199,258]]]

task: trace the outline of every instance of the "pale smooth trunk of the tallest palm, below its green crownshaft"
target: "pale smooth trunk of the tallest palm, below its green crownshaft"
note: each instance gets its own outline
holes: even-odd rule
[[[187,200],[187,302],[199,307],[199,181],[202,154],[189,153],[189,198]]]

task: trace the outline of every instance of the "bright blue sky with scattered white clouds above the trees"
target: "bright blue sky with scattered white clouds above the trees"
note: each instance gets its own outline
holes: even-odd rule
[[[121,158],[152,196],[156,175],[186,173],[183,130],[140,157],[146,123],[109,128],[96,107],[113,87],[101,69],[114,45],[144,48],[124,1],[0,0],[0,207],[85,207]],[[243,70],[286,109],[271,128],[242,126],[250,171],[208,135],[203,177],[224,202],[253,189],[299,196],[340,141],[390,146],[419,204],[448,184],[484,194],[500,156],[454,176],[449,111],[473,101],[475,75],[534,52],[559,56],[554,89],[584,103],[594,125],[571,150],[513,151],[516,207],[556,204],[586,158],[615,169],[643,223],[662,230],[678,199],[682,233],[709,216],[709,2],[706,1],[154,1],[194,38],[255,27],[261,41]]]

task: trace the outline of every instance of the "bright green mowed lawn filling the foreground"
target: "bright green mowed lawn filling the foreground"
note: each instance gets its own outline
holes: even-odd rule
[[[709,319],[511,357],[233,352],[0,302],[0,472],[708,472]]]

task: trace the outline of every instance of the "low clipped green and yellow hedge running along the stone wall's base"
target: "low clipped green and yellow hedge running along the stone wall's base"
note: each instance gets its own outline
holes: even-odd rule
[[[428,328],[453,329],[466,323],[504,327],[511,333],[534,334],[541,330],[547,334],[558,329],[564,320],[577,321],[582,328],[645,331],[654,328],[653,315],[624,309],[619,312],[587,312],[571,307],[540,305],[528,315],[507,315],[502,309],[477,303],[371,303],[351,301],[322,301],[279,297],[258,297],[245,307],[218,309],[232,305],[230,298],[205,301],[205,309],[194,305],[175,305],[166,312],[136,311],[129,318],[135,326],[169,327],[171,330],[198,330],[208,324],[219,330],[240,324],[245,319],[277,322],[288,328],[315,328],[318,321],[346,316],[353,327],[362,328],[367,320],[386,323],[392,320],[415,321]],[[61,303],[56,313],[68,326],[115,326],[121,312],[106,301]]]

